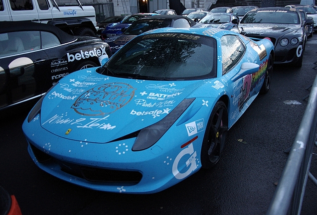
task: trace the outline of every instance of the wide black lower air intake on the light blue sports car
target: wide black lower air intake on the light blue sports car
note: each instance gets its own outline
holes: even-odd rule
[[[120,171],[120,170],[109,170],[94,168],[88,166],[77,165],[65,161],[61,161],[53,158],[52,156],[42,152],[32,144],[30,144],[31,149],[37,159],[41,164],[45,163],[57,163],[61,170],[72,176],[86,179],[90,182],[108,182],[108,183],[128,183],[129,185],[136,185],[142,179],[142,174],[137,171]]]

